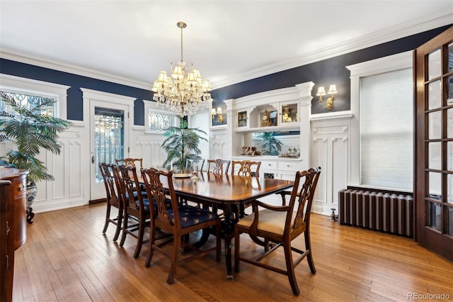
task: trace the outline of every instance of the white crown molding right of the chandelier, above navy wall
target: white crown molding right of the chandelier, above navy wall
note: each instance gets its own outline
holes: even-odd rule
[[[307,65],[313,62],[319,62],[321,60],[326,60],[338,55],[345,55],[349,52],[354,52],[374,45],[398,40],[400,38],[408,37],[409,35],[423,33],[424,31],[440,28],[452,23],[453,9],[444,11],[442,13],[437,13],[423,19],[418,19],[413,22],[403,23],[398,26],[392,26],[391,28],[379,30],[360,38],[347,40],[343,43],[329,47],[323,47],[319,50],[307,52],[303,55],[298,55],[297,57],[292,57],[285,61],[280,61],[271,65],[260,67],[258,69],[253,69],[250,72],[239,74],[235,77],[226,77],[224,79],[220,79],[219,81],[213,82],[212,89],[219,89],[224,86],[229,86],[232,84],[245,82],[250,79],[263,77],[268,74],[282,72],[283,70],[292,69],[294,67]]]

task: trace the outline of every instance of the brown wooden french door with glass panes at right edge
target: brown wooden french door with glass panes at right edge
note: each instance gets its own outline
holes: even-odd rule
[[[415,59],[415,239],[453,261],[453,27]]]

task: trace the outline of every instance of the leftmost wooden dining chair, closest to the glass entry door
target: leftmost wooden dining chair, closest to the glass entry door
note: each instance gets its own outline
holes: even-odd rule
[[[117,194],[118,189],[115,177],[113,176],[113,166],[114,164],[107,164],[105,162],[101,162],[99,164],[99,169],[101,170],[102,178],[104,180],[107,201],[107,213],[105,213],[105,223],[102,233],[105,234],[109,223],[116,225],[115,235],[113,236],[113,241],[116,241],[120,236],[124,207],[123,203],[121,202],[120,196],[118,196]],[[110,217],[112,206],[117,208],[118,210],[117,216],[115,218]]]

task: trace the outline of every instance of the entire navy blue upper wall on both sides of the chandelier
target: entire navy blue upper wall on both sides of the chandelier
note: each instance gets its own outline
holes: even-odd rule
[[[365,62],[368,60],[394,55],[407,50],[415,50],[418,46],[435,37],[450,26],[444,26],[434,30],[429,30],[417,35],[411,35],[406,38],[391,41],[381,45],[350,52],[346,55],[340,55],[328,60],[314,62],[309,65],[288,69],[275,74],[269,74],[257,79],[251,79],[231,86],[222,87],[212,91],[214,98],[214,107],[226,109],[223,101],[226,99],[237,99],[241,96],[256,94],[262,91],[286,88],[294,84],[304,82],[314,82],[315,86],[312,95],[315,94],[318,86],[325,86],[328,89],[330,84],[336,84],[338,94],[333,111],[345,111],[350,109],[350,73],[345,67],[348,65]],[[21,62],[15,62],[6,59],[0,59],[0,73],[10,74],[17,77],[37,79],[45,82],[52,82],[71,86],[67,96],[67,118],[70,120],[83,120],[83,99],[81,87],[98,91],[105,91],[112,94],[131,96],[137,98],[134,104],[134,124],[144,125],[144,104],[142,100],[151,100],[152,92],[146,89],[138,89],[127,85],[115,84],[112,82],[102,81],[83,77],[77,74],[59,72],[54,69],[37,67]],[[151,83],[150,83],[151,86]],[[326,112],[326,109],[320,106],[312,106],[312,113]]]

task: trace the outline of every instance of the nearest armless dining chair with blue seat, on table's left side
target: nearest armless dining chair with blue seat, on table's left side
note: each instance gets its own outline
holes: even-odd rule
[[[220,261],[220,219],[216,213],[212,213],[203,208],[196,206],[180,206],[176,198],[175,189],[173,188],[173,171],[159,171],[154,168],[142,169],[142,179],[148,196],[156,201],[156,208],[151,207],[151,226],[149,230],[149,254],[145,267],[149,267],[154,251],[162,252],[170,257],[171,266],[168,273],[167,283],[173,284],[176,266],[181,262],[206,255],[209,252],[216,251],[216,260]],[[164,187],[162,180],[168,184],[168,188]],[[171,208],[166,206],[166,198],[170,196]],[[181,240],[182,237],[187,237],[190,233],[206,228],[215,228],[216,245],[215,247],[201,250],[199,247],[190,245],[188,240]],[[163,242],[156,243],[156,230],[162,230],[165,233],[173,234],[173,238]],[[165,245],[173,243],[171,252],[164,249]],[[180,248],[188,247],[193,250],[195,255],[181,257]]]

